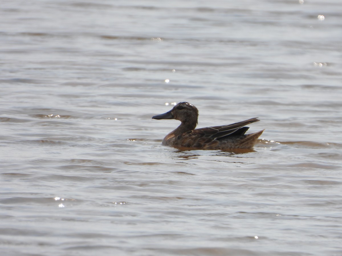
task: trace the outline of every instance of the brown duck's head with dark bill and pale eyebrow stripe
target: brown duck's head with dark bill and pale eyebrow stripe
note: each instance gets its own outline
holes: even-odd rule
[[[152,117],[153,119],[176,119],[180,120],[182,123],[186,122],[196,122],[198,118],[198,109],[189,102],[180,102],[173,107],[170,111],[156,115]]]

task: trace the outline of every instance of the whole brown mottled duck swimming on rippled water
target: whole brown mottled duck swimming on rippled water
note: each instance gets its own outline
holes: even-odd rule
[[[238,123],[195,129],[198,124],[198,109],[189,102],[180,102],[163,114],[152,119],[176,119],[181,124],[167,134],[162,145],[202,150],[251,150],[264,130],[245,134],[249,125],[260,121],[258,117]]]

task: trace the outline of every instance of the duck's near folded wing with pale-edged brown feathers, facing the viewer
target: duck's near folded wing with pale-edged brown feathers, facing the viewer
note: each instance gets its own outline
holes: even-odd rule
[[[195,147],[199,145],[212,145],[224,139],[227,136],[241,136],[245,134],[249,127],[248,124],[260,121],[258,117],[250,118],[248,120],[222,126],[212,126],[199,128],[187,131],[179,138],[180,146]]]

